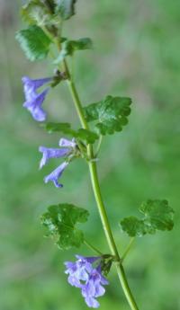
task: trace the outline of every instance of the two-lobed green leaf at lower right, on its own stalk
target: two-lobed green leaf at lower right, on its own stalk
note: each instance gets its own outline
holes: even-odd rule
[[[157,230],[172,230],[174,226],[174,210],[168,206],[166,200],[148,200],[143,202],[139,211],[144,215],[125,217],[121,220],[121,229],[131,237],[155,234]]]

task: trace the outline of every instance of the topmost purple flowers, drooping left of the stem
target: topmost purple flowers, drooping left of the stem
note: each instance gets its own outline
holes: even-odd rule
[[[28,76],[23,76],[23,91],[25,95],[25,102],[23,107],[31,112],[34,120],[43,121],[46,120],[46,112],[43,111],[41,105],[49,92],[49,87],[42,93],[37,93],[38,88],[42,85],[49,83],[52,80],[51,77],[41,78],[38,80],[31,80]]]

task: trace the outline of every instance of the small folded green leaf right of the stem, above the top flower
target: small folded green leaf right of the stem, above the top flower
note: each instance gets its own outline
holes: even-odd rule
[[[65,40],[62,43],[61,51],[58,58],[54,61],[54,64],[58,64],[67,56],[73,56],[76,50],[92,49],[93,42],[89,38],[82,38],[79,40]]]

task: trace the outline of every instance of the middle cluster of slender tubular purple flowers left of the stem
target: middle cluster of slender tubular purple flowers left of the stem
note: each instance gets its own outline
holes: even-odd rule
[[[43,165],[49,162],[49,158],[67,157],[69,159],[70,156],[73,155],[73,153],[75,153],[76,151],[76,142],[74,139],[67,140],[66,138],[61,138],[59,140],[59,146],[61,148],[48,148],[45,146],[39,147],[39,151],[42,153],[40,169],[43,167]],[[58,168],[56,168],[52,173],[50,173],[44,178],[44,182],[47,183],[51,181],[57,188],[62,187],[63,185],[58,183],[58,179],[67,168],[68,164],[68,160],[60,164]]]

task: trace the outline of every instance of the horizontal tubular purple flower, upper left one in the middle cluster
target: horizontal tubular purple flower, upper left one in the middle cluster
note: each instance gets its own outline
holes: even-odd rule
[[[40,161],[40,169],[43,167],[43,165],[48,163],[49,158],[64,157],[70,153],[69,148],[48,148],[45,146],[40,146],[39,151],[43,154]]]

